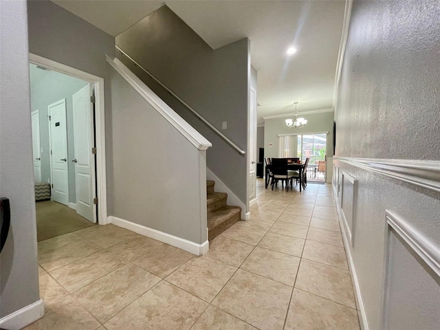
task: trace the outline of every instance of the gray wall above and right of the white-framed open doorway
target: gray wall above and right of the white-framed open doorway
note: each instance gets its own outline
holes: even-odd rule
[[[52,1],[28,1],[28,25],[31,53],[104,78],[106,165],[111,173],[111,67],[105,61],[105,54],[114,56],[114,37]],[[107,187],[111,186],[111,176],[107,175]],[[109,214],[113,198],[110,189],[107,188]]]

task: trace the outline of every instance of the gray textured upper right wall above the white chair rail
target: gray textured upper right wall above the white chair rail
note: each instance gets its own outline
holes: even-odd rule
[[[440,160],[438,1],[355,1],[338,155]]]

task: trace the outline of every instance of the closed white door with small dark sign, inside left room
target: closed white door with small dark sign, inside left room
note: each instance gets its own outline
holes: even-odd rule
[[[52,199],[69,204],[69,169],[67,166],[66,100],[48,106],[52,171]]]

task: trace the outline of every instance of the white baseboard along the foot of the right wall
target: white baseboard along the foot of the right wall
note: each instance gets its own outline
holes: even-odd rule
[[[336,199],[336,195],[333,197],[335,197],[335,199]],[[344,241],[345,252],[347,253],[347,259],[349,261],[349,267],[350,267],[350,272],[351,272],[351,281],[353,282],[353,289],[355,292],[356,306],[358,308],[358,314],[360,314],[359,315],[360,316],[359,317],[360,327],[361,327],[361,330],[369,330],[369,324],[366,321],[364,302],[362,301],[362,295],[360,294],[358,276],[356,275],[355,264],[353,263],[353,257],[351,256],[351,250],[350,250],[351,249],[351,240],[349,241],[349,239],[347,238],[347,234],[345,232],[344,221],[342,219],[342,210],[341,210],[338,202],[336,202],[336,210],[338,211],[338,219],[341,224],[340,228],[342,231],[341,232],[342,241]]]

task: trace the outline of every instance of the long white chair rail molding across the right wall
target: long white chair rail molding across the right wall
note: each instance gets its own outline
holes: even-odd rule
[[[356,157],[333,157],[333,161],[344,162],[421,188],[440,192],[440,162],[438,161]]]

